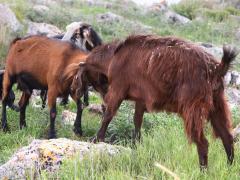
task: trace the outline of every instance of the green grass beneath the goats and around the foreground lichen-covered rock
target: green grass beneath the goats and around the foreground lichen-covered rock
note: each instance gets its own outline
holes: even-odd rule
[[[91,96],[90,103],[99,102],[97,96]],[[100,116],[83,113],[84,136],[74,135],[70,125],[61,122],[61,111],[58,106],[56,122],[57,136],[76,140],[88,140],[94,136],[100,126]],[[74,103],[66,109],[75,111]],[[239,122],[239,110],[233,110],[234,124]],[[18,148],[29,144],[33,139],[45,139],[48,130],[48,110],[27,109],[28,128],[19,130],[16,112],[8,110],[8,122],[11,133],[0,131],[0,163],[4,163]],[[182,120],[175,114],[145,114],[142,129],[142,141],[132,146],[133,104],[123,103],[117,116],[111,122],[106,141],[132,148],[116,157],[96,155],[79,160],[78,155],[65,160],[59,172],[42,173],[43,179],[169,179],[169,176],[154,166],[155,162],[168,167],[181,179],[238,179],[240,150],[236,147],[235,162],[232,166],[226,163],[226,155],[220,140],[214,140],[211,128],[207,126],[206,135],[209,140],[209,169],[201,173],[198,167],[198,155],[195,145],[189,145],[184,134]],[[113,138],[114,135],[114,139]]]

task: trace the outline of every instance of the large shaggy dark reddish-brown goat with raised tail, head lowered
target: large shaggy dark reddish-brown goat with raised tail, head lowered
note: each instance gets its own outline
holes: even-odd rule
[[[184,120],[189,141],[197,145],[200,166],[207,167],[208,141],[203,128],[209,120],[231,164],[234,147],[223,77],[237,52],[227,47],[223,52],[218,63],[191,42],[151,35],[130,36],[125,41],[94,49],[86,63],[80,64],[80,77],[72,88],[79,87],[82,92],[81,88],[89,81],[104,97],[106,111],[95,140],[104,141],[108,124],[121,102],[133,100],[135,138],[140,138],[144,112],[178,113]],[[92,72],[100,73],[102,78],[96,79]]]

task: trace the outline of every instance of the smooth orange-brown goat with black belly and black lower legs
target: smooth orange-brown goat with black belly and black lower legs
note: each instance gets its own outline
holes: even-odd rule
[[[87,53],[71,43],[45,36],[16,39],[10,45],[3,79],[2,128],[7,129],[6,103],[14,83],[23,91],[20,99],[20,127],[26,126],[25,110],[33,89],[48,90],[50,108],[49,138],[55,137],[56,98],[70,93],[77,103],[75,133],[82,134],[82,102],[70,92],[74,74],[66,79],[65,69],[74,63],[85,61]]]

